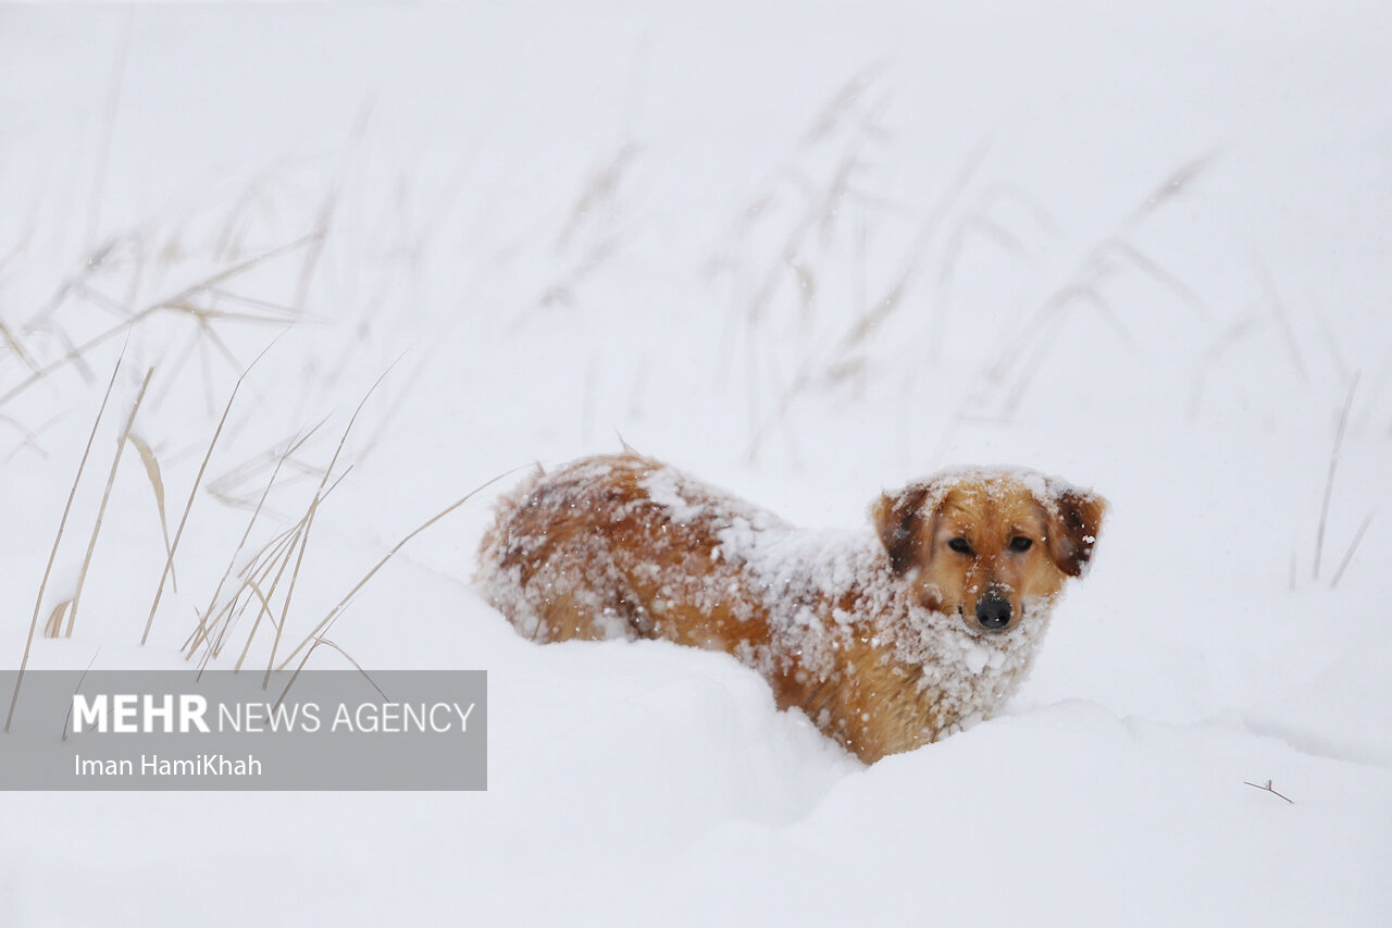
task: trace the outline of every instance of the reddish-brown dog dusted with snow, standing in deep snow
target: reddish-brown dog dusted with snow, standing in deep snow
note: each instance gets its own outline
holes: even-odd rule
[[[475,580],[536,641],[725,651],[873,764],[1015,693],[1105,510],[1034,471],[958,468],[883,493],[873,531],[807,531],[624,453],[505,495]]]

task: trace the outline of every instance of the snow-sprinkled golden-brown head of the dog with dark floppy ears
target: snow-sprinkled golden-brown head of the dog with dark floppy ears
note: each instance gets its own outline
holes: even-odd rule
[[[884,493],[870,518],[915,602],[1004,633],[1025,602],[1087,570],[1105,511],[1101,496],[1033,471],[969,468]]]

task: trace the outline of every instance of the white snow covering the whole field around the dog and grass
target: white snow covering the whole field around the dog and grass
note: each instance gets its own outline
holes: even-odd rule
[[[122,350],[40,626],[146,372],[173,541],[264,355],[149,644],[127,443],[35,667],[187,666],[365,396],[295,642],[619,436],[809,525],[1112,503],[1008,712],[864,768],[725,655],[515,635],[505,477],[327,633],[487,669],[489,791],[6,794],[0,924],[1389,924],[1392,7],[0,7],[0,666]]]

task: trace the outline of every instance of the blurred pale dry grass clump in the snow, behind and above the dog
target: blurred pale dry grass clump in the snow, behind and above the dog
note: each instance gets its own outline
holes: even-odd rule
[[[917,364],[906,373],[913,389],[924,376],[920,371],[941,358],[952,290],[969,241],[986,240],[1004,256],[997,262],[1001,269],[1022,276],[1033,272],[1034,277],[1038,262],[1030,242],[1045,234],[1055,249],[1066,245],[1040,198],[1009,181],[979,180],[990,152],[984,141],[922,208],[876,191],[876,164],[894,141],[880,118],[884,96],[874,68],[838,89],[788,164],[756,188],[706,262],[707,273],[728,280],[732,288],[721,376],[728,376],[727,365],[742,364],[746,461],[757,460],[775,438],[793,461],[799,460],[795,407],[816,392],[849,394],[855,401],[871,379],[889,375],[880,361],[902,361],[896,340],[915,346]],[[1055,354],[1063,322],[1077,308],[1096,312],[1119,343],[1134,347],[1132,325],[1111,291],[1123,279],[1148,281],[1196,319],[1212,315],[1189,280],[1139,244],[1140,233],[1185,196],[1211,162],[1205,155],[1180,164],[1123,210],[1062,274],[1033,283],[1033,293],[1025,297],[1033,307],[1015,309],[1015,318],[1008,318],[1012,325],[990,336],[999,350],[980,365],[980,387],[966,397],[959,419],[969,407],[977,414],[992,410],[998,421],[1012,418]],[[870,269],[869,241],[878,242],[881,251],[885,242],[895,242],[898,261],[888,268],[876,262]],[[967,312],[977,309],[960,311],[963,318]],[[980,337],[986,334],[979,330]]]

